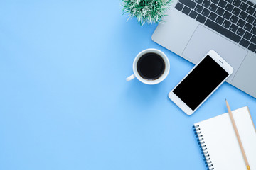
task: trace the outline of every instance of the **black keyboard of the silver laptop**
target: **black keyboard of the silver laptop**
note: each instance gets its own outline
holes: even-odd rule
[[[256,4],[247,0],[179,0],[175,8],[256,52]]]

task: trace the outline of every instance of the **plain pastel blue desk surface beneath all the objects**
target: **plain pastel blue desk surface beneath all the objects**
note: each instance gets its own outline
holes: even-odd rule
[[[223,84],[191,116],[167,94],[193,64],[151,40],[122,1],[0,2],[0,169],[206,169],[192,125],[256,99]],[[146,48],[169,76],[127,82]]]

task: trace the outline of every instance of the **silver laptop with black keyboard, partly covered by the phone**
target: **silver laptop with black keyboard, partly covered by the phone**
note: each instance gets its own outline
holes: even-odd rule
[[[256,1],[173,0],[152,40],[196,64],[215,50],[234,69],[228,83],[256,98]]]

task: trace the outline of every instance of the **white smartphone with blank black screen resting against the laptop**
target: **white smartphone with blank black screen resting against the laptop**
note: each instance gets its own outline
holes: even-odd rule
[[[232,73],[230,64],[210,50],[170,91],[169,98],[191,115]]]

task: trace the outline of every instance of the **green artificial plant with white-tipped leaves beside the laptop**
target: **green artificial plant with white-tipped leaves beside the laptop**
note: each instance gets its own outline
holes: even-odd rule
[[[122,0],[123,12],[136,17],[140,25],[159,23],[171,5],[171,0]]]

